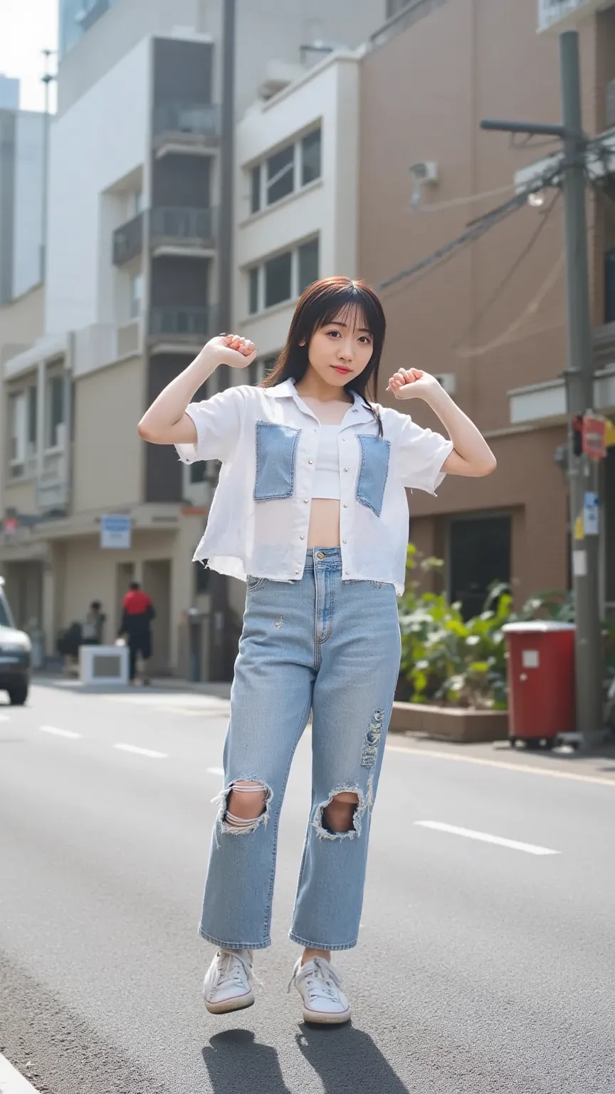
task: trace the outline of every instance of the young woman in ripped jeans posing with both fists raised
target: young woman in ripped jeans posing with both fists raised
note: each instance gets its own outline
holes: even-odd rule
[[[417,369],[388,381],[422,398],[449,438],[370,401],[385,319],[361,281],[317,281],[258,387],[190,403],[220,363],[246,368],[251,341],[211,339],[139,423],[185,463],[219,459],[196,559],[247,580],[200,933],[218,951],[208,1011],[250,1006],[253,951],[270,945],[280,806],[312,712],[312,810],[290,938],[303,946],[291,986],[309,1022],[341,1023],[350,1004],[330,952],[357,944],[368,839],[399,670],[406,488],[496,467],[487,443],[439,383]],[[290,987],[289,987],[290,990]]]

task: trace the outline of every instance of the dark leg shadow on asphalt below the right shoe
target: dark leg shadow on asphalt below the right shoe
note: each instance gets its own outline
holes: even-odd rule
[[[325,1094],[409,1094],[369,1034],[351,1025],[303,1024],[297,1044],[320,1075]]]

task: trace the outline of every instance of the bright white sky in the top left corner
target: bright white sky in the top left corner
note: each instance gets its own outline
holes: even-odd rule
[[[42,110],[43,49],[58,48],[58,0],[0,0],[0,73],[21,80],[22,110]],[[50,57],[56,71],[56,57]],[[55,84],[51,83],[51,109]]]

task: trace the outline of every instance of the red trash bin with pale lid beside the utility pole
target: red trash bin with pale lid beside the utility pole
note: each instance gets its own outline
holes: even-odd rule
[[[508,651],[509,740],[553,746],[576,730],[575,626],[535,620],[503,628]]]

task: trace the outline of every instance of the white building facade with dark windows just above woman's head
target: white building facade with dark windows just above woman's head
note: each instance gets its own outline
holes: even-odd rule
[[[357,276],[361,54],[333,53],[237,126],[234,326],[259,351],[255,380],[303,290]]]

